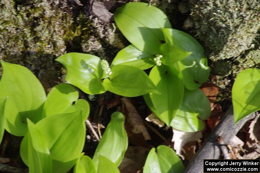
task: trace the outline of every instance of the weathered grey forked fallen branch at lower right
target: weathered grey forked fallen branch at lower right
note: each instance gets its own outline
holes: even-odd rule
[[[248,120],[254,118],[254,116],[255,114],[253,113],[234,125],[233,106],[230,106],[217,126],[210,133],[210,136],[185,168],[184,173],[203,172],[203,159],[218,159],[220,157],[221,145],[217,142],[217,138],[221,136],[224,144],[228,144],[243,125]]]

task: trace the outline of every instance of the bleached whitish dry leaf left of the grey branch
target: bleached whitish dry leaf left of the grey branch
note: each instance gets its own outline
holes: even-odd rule
[[[173,139],[174,142],[174,150],[176,150],[176,154],[178,154],[183,160],[184,156],[181,154],[182,147],[188,143],[197,141],[198,139],[202,138],[201,131],[199,132],[183,132],[173,129]]]

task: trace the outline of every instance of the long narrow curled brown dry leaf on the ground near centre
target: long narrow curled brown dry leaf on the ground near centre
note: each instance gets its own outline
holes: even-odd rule
[[[142,133],[145,140],[151,140],[151,137],[147,132],[147,129],[143,124],[143,120],[139,116],[135,106],[132,105],[132,103],[126,97],[121,98],[121,101],[124,103],[128,111],[127,122],[132,125],[132,132],[136,134]]]

